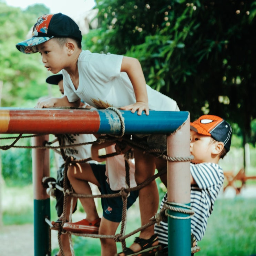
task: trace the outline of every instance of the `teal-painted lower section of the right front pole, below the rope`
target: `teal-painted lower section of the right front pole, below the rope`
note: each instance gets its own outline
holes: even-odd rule
[[[190,204],[186,204],[190,206]],[[178,206],[176,206],[178,207]],[[188,214],[168,210],[168,214],[187,217]],[[191,220],[176,219],[168,216],[168,256],[191,255]]]

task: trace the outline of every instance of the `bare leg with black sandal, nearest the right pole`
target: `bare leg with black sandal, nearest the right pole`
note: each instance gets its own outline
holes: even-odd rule
[[[135,180],[137,184],[150,178],[155,173],[154,157],[144,154],[138,149],[134,149],[135,158]],[[157,213],[159,202],[159,194],[156,182],[153,181],[149,185],[143,187],[139,191],[139,205],[141,213],[141,225],[145,225],[150,221],[150,218]],[[144,229],[140,233],[140,238],[149,239],[154,234],[154,225]],[[155,245],[155,244],[154,244]],[[134,252],[141,250],[141,246],[134,243],[130,247]]]

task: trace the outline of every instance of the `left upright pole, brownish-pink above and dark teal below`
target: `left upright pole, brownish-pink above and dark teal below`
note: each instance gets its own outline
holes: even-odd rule
[[[33,146],[43,146],[49,135],[33,138]],[[42,185],[42,178],[50,176],[49,150],[33,149],[33,192],[34,192],[34,255],[50,255],[49,226],[45,217],[50,218],[50,198]]]

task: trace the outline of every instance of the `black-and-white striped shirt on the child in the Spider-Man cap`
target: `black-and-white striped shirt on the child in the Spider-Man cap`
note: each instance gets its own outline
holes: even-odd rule
[[[191,185],[191,207],[195,214],[191,217],[191,233],[200,241],[205,233],[208,217],[212,214],[214,202],[223,185],[222,168],[214,163],[190,164],[190,172],[196,184]],[[167,202],[165,194],[160,208]],[[161,244],[168,244],[168,224],[155,224],[155,233]]]

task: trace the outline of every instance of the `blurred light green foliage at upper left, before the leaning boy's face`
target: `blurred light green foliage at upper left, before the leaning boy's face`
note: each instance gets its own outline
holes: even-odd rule
[[[45,83],[47,70],[40,54],[25,55],[15,46],[31,36],[28,31],[31,31],[36,19],[34,13],[0,2],[1,106],[33,107],[40,96],[48,95]]]

